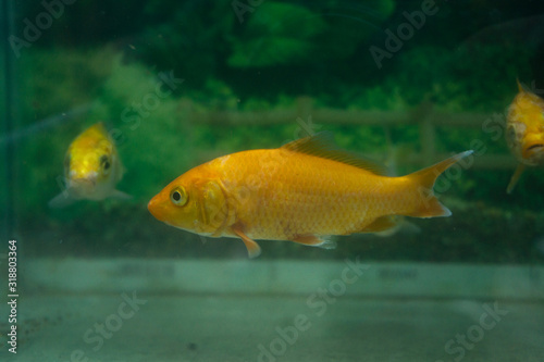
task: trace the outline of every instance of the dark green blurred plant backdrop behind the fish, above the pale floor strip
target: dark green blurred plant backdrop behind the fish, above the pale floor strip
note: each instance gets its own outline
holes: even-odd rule
[[[452,114],[504,115],[516,78],[544,89],[544,4],[537,1],[436,1],[434,15],[379,68],[369,49],[385,49],[386,29],[406,23],[422,1],[126,1],[79,0],[35,41],[13,53],[17,110],[14,170],[1,178],[14,199],[15,230],[28,255],[246,258],[239,240],[176,230],[147,211],[149,199],[191,166],[213,157],[274,148],[301,136],[284,124],[197,122],[198,112],[264,112],[310,97],[316,109],[380,110],[407,114],[432,104]],[[11,35],[24,39],[42,3],[14,2]],[[13,40],[13,38],[12,38]],[[13,49],[12,49],[13,50]],[[4,54],[5,55],[5,54]],[[5,72],[2,72],[8,77]],[[138,114],[161,74],[175,87]],[[5,102],[5,99],[2,100]],[[151,104],[151,103],[148,103]],[[187,112],[190,104],[190,112]],[[310,113],[311,115],[311,113]],[[489,118],[487,117],[487,118]],[[486,117],[482,118],[482,124]],[[82,201],[50,210],[61,191],[64,152],[74,137],[104,121],[114,130],[127,172],[119,189],[131,201]],[[338,125],[322,122],[351,151],[382,154],[399,174],[417,167],[403,154],[421,150],[418,125]],[[482,127],[436,130],[436,152],[459,152],[482,140],[507,154],[504,138]],[[394,152],[396,150],[396,152]],[[397,154],[395,158],[394,155]],[[400,155],[398,155],[400,154]],[[542,263],[544,172],[526,172],[512,195],[514,168],[469,168],[442,200],[454,215],[412,220],[390,238],[338,238],[336,250],[263,241],[261,258],[430,262]],[[12,179],[12,184],[8,183]],[[3,200],[3,203],[8,201]],[[2,217],[3,223],[12,223]],[[12,225],[13,226],[13,225]],[[3,225],[3,227],[8,227]]]

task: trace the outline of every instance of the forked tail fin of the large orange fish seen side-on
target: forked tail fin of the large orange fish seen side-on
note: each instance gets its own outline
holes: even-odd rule
[[[469,154],[472,154],[473,151],[465,151],[458,153],[454,157],[450,157],[447,160],[438,162],[430,167],[417,171],[412,174],[406,176],[409,178],[416,187],[421,196],[421,202],[416,208],[416,210],[406,214],[406,216],[413,217],[436,217],[436,216],[449,216],[452,215],[452,211],[449,211],[445,205],[443,205],[438,199],[434,196],[433,187],[436,178],[446,171],[448,167],[457,163],[462,158],[466,158]]]

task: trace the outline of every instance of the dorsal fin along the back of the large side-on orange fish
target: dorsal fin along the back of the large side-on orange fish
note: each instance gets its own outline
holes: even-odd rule
[[[314,136],[297,139],[282,146],[282,148],[293,152],[342,162],[376,175],[387,175],[385,166],[370,161],[360,154],[339,149],[334,145],[333,136],[329,132],[320,132]]]

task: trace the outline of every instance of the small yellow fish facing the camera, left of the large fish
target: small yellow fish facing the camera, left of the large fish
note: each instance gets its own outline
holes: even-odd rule
[[[99,122],[70,145],[64,158],[66,188],[49,201],[49,207],[63,208],[81,199],[131,198],[115,189],[123,171],[115,145]]]

